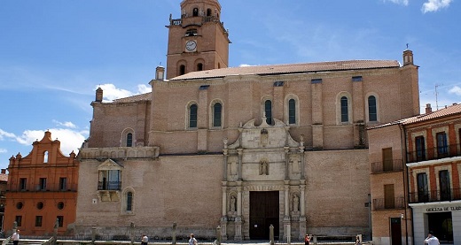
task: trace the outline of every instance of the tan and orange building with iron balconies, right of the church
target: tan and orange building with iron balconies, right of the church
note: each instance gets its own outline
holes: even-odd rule
[[[373,241],[422,244],[433,231],[445,244],[460,243],[461,104],[439,111],[428,104],[425,114],[368,133]]]

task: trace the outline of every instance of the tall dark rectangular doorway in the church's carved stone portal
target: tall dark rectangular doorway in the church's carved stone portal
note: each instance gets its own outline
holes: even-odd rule
[[[250,239],[269,240],[270,225],[274,226],[274,239],[279,235],[278,191],[250,192]]]

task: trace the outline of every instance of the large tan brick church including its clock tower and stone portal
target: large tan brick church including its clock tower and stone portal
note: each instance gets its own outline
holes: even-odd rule
[[[345,60],[228,67],[217,0],[169,19],[152,92],[91,103],[75,234],[223,240],[371,235],[366,128],[419,113],[418,66]],[[166,79],[165,79],[166,75]]]

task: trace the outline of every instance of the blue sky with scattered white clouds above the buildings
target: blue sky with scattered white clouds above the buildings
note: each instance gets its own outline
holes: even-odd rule
[[[0,167],[50,129],[68,156],[89,136],[91,101],[149,91],[181,0],[2,0]],[[221,0],[230,66],[350,59],[419,65],[422,111],[461,103],[459,0]],[[435,90],[437,88],[437,90]],[[437,91],[437,96],[435,94]],[[437,100],[436,100],[437,97]]]

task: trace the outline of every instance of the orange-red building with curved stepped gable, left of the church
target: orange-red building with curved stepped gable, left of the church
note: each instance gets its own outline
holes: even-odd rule
[[[21,234],[51,235],[57,225],[59,234],[68,234],[75,221],[79,163],[74,152],[62,154],[49,131],[32,146],[27,157],[10,158],[4,231],[11,234],[16,224]]]

